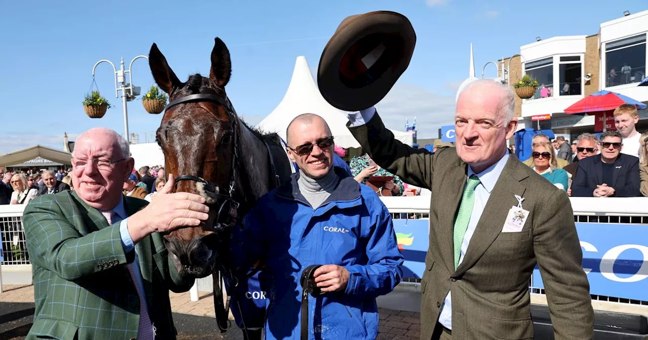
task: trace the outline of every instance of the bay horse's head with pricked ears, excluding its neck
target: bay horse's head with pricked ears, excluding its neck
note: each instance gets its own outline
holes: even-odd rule
[[[231,74],[229,51],[216,38],[209,78],[194,74],[185,83],[156,44],[148,58],[153,78],[169,95],[156,133],[167,174],[176,177],[176,192],[201,195],[210,208],[209,220],[166,234],[165,243],[180,275],[205,277],[219,260],[219,232],[229,225],[235,210],[231,193],[238,119],[225,93]]]

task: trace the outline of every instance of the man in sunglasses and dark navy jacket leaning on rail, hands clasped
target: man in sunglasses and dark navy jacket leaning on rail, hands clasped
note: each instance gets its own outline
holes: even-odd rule
[[[621,153],[621,133],[601,135],[601,157],[578,162],[578,176],[572,181],[573,197],[636,197],[639,192],[639,159]]]

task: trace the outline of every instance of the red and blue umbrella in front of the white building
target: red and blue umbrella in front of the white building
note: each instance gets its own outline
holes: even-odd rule
[[[610,125],[610,123],[608,123],[608,117],[612,117],[612,111],[622,104],[631,104],[636,106],[637,109],[646,108],[646,104],[643,104],[639,100],[621,95],[620,93],[603,90],[592,93],[592,95],[586,96],[585,98],[575,102],[572,106],[565,109],[565,113],[587,113],[588,115],[596,115],[594,130],[605,131],[608,129],[607,126]],[[614,124],[612,124],[610,128],[614,128]]]

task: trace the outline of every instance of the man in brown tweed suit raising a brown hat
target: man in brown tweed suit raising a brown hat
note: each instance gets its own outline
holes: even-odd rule
[[[533,339],[528,282],[538,265],[555,339],[592,339],[594,312],[570,201],[509,157],[511,88],[475,80],[457,100],[455,148],[435,153],[394,139],[373,106],[407,68],[408,19],[345,19],[322,54],[319,89],[349,113],[369,156],[405,183],[432,190],[421,281],[421,339]]]

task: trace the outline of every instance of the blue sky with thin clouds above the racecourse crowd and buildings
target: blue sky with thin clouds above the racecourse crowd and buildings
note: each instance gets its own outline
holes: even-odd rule
[[[90,3],[95,3],[90,5]],[[157,43],[180,80],[209,73],[214,37],[229,47],[233,76],[226,87],[238,113],[256,124],[281,102],[297,56],[316,70],[324,45],[349,15],[395,10],[417,33],[410,67],[378,105],[389,128],[403,130],[417,117],[419,138],[437,137],[452,122],[458,85],[468,76],[474,45],[478,76],[489,60],[518,53],[535,37],[596,34],[599,24],[648,8],[645,0],[524,1],[328,0],[328,1],[12,1],[0,14],[0,153],[34,144],[62,148],[95,126],[123,133],[121,98],[113,71],[103,63],[96,80],[113,104],[102,119],[89,119],[82,98],[95,62],[127,67]],[[154,85],[145,59],[133,64],[143,92]],[[495,76],[492,65],[486,76]],[[161,115],[141,101],[128,103],[130,132],[149,139]],[[148,133],[148,135],[146,134]]]

